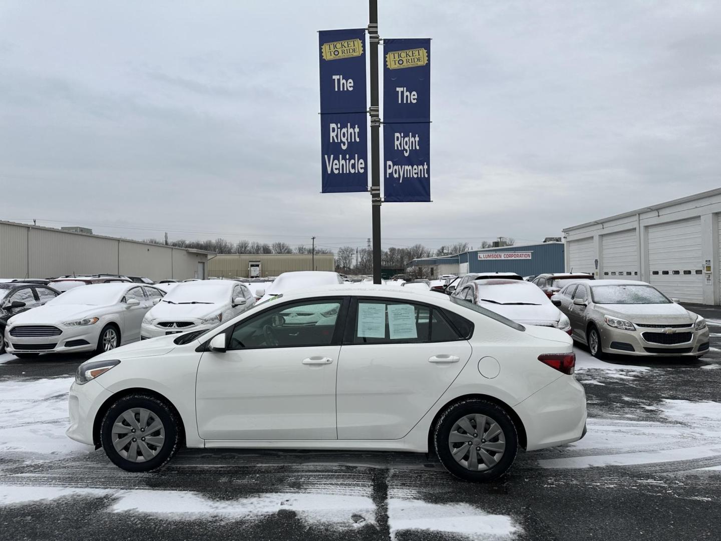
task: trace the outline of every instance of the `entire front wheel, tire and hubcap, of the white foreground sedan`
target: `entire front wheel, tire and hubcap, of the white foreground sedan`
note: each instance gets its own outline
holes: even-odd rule
[[[165,464],[180,444],[180,421],[162,400],[148,395],[120,398],[105,413],[100,441],[107,457],[128,472]]]

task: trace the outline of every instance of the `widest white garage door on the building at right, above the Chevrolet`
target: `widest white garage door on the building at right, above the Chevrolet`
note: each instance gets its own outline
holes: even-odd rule
[[[684,302],[704,301],[701,219],[672,221],[648,228],[651,283]]]

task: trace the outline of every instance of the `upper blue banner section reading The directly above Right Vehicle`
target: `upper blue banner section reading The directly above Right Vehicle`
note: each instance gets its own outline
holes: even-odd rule
[[[321,30],[320,112],[366,113],[366,30]]]

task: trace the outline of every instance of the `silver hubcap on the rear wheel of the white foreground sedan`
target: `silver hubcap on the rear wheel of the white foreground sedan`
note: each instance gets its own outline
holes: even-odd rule
[[[451,428],[448,448],[466,470],[490,470],[503,457],[505,434],[488,415],[465,415]]]

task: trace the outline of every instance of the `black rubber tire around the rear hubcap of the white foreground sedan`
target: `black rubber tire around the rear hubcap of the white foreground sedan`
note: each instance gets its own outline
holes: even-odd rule
[[[474,450],[476,444],[479,443],[478,441],[475,441],[475,439],[480,439],[480,437],[475,438],[474,441],[469,444],[469,453],[467,454],[468,459],[466,459],[466,465],[461,465],[461,463],[454,458],[451,452],[451,445],[456,446],[455,449],[461,451],[461,447],[464,447],[465,443],[461,442],[459,444],[456,442],[455,444],[451,444],[451,430],[454,428],[456,423],[461,421],[464,417],[466,417],[466,415],[484,415],[487,418],[487,423],[484,423],[484,426],[489,427],[485,428],[485,430],[488,432],[491,431],[492,425],[489,421],[489,419],[491,419],[492,421],[495,421],[495,423],[497,423],[503,431],[501,436],[494,436],[489,442],[485,442],[485,440],[482,441],[482,445],[489,445],[494,443],[498,444],[500,443],[500,439],[505,439],[505,449],[503,449],[503,453],[500,454],[500,458],[497,458],[498,454],[494,451],[487,453],[491,454],[493,459],[497,459],[495,465],[487,466],[483,464],[482,459],[479,459],[481,456],[480,452]],[[472,421],[472,423],[474,422],[476,421]],[[477,426],[472,424],[472,428],[477,428]],[[456,431],[456,434],[459,433]],[[469,434],[469,439],[470,436],[476,434],[478,433]],[[495,403],[488,402],[487,400],[462,400],[459,403],[449,406],[448,409],[443,412],[443,415],[441,415],[441,418],[438,419],[438,423],[435,425],[433,441],[435,443],[435,453],[438,454],[438,458],[441,459],[441,463],[444,467],[446,467],[446,470],[451,472],[451,474],[455,475],[457,478],[466,481],[488,482],[503,477],[503,475],[508,473],[508,470],[510,470],[510,467],[513,465],[513,460],[516,459],[516,453],[518,452],[518,432],[516,431],[516,425],[503,408]],[[475,447],[475,449],[479,449],[479,447]],[[472,461],[470,453],[476,453],[476,461],[479,462],[479,464],[483,464],[480,467],[484,467],[486,469],[469,469],[467,465]]]

